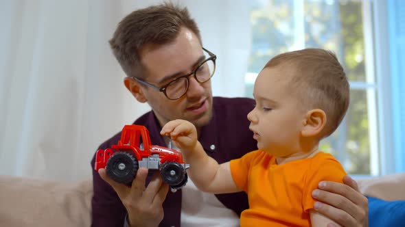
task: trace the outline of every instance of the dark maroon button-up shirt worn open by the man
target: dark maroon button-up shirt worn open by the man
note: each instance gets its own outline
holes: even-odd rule
[[[213,118],[201,129],[198,140],[205,152],[218,163],[238,159],[246,152],[257,150],[257,142],[253,139],[253,133],[248,130],[249,122],[246,118],[248,112],[253,109],[253,105],[254,101],[250,98],[213,98]],[[152,111],[138,118],[134,124],[146,126],[152,144],[166,146],[160,135],[161,126]],[[99,149],[117,144],[120,137],[121,132],[104,142]],[[214,145],[215,149],[211,150],[211,145]],[[94,189],[91,200],[92,226],[122,227],[126,209],[114,189],[94,170],[94,162],[95,157],[91,160]],[[244,192],[216,194],[216,197],[224,206],[238,215],[248,208],[248,199]],[[176,193],[171,191],[167,193],[163,209],[165,215],[159,226],[180,226],[181,189]]]

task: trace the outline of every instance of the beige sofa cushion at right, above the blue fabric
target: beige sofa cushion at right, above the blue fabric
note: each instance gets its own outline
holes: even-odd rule
[[[386,201],[405,200],[405,173],[358,180],[358,187],[365,196]]]

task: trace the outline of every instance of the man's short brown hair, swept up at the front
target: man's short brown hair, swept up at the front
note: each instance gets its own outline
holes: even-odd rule
[[[201,43],[200,30],[187,8],[161,3],[135,10],[119,22],[110,46],[128,77],[143,77],[139,53],[146,44],[167,44],[187,28]]]

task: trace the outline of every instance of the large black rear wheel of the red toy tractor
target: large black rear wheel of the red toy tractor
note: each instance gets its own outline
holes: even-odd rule
[[[131,185],[137,175],[138,161],[129,152],[115,152],[107,161],[108,176],[118,183]]]

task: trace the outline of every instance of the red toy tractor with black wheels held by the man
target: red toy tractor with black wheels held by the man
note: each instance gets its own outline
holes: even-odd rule
[[[184,163],[181,152],[151,145],[145,126],[126,125],[118,144],[97,150],[94,169],[105,168],[108,176],[118,183],[131,185],[141,167],[149,172],[160,170],[163,181],[171,189],[180,189],[187,183],[185,170],[189,164]]]

